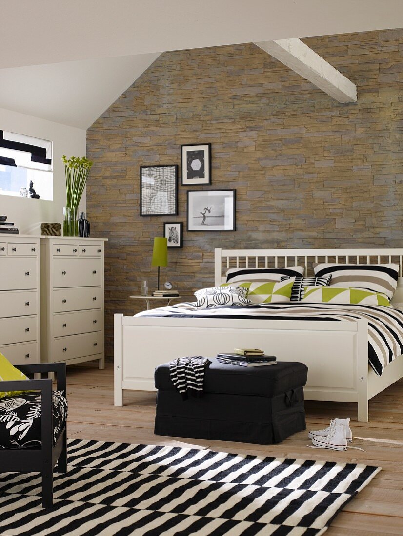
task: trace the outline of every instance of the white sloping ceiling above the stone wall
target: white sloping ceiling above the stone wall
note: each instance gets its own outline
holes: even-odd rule
[[[160,51],[403,27],[402,0],[0,0],[0,13],[0,107],[80,128]]]

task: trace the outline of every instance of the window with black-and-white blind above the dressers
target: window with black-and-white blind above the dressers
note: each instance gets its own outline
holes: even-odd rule
[[[0,195],[18,197],[31,181],[41,199],[53,199],[52,142],[0,130]]]

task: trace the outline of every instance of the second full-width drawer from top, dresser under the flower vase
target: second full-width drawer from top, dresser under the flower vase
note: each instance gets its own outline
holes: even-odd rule
[[[101,287],[63,288],[53,291],[55,312],[83,311],[102,307]]]

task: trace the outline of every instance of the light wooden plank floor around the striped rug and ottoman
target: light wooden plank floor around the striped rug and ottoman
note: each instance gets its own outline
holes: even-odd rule
[[[356,421],[356,405],[305,402],[308,429],[328,426],[335,416],[351,417],[354,446],[347,452],[307,447],[306,431],[278,445],[252,445],[225,441],[163,437],[153,434],[155,393],[126,391],[125,406],[113,405],[113,368],[91,364],[68,367],[68,437],[192,446],[264,456],[287,456],[328,461],[362,462],[383,468],[370,485],[333,520],[328,536],[403,534],[403,380],[370,401],[370,422]]]

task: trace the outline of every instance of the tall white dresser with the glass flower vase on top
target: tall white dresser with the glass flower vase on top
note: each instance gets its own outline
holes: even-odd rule
[[[104,239],[41,237],[41,359],[67,364],[104,354]]]

